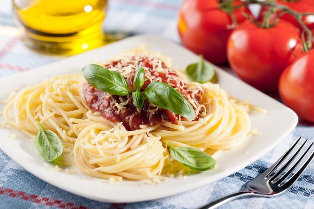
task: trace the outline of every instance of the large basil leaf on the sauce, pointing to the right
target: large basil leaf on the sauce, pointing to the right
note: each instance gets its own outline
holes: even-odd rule
[[[189,120],[195,118],[191,104],[167,83],[154,81],[146,87],[144,94],[148,101],[154,105],[182,115]]]

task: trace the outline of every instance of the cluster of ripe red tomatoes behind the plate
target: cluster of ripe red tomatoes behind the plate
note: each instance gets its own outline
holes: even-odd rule
[[[314,13],[314,0],[276,3]],[[243,1],[233,2],[239,4]],[[262,22],[267,11],[269,7],[263,6],[256,22]],[[247,7],[232,14],[221,9],[218,0],[186,0],[178,24],[183,45],[214,64],[228,62],[243,81],[261,91],[279,90],[283,102],[300,118],[314,122],[314,49],[303,52],[303,27],[289,14],[280,18],[272,14],[269,22],[279,21],[267,28],[248,20],[252,15]],[[303,16],[302,21],[314,33],[314,16]]]

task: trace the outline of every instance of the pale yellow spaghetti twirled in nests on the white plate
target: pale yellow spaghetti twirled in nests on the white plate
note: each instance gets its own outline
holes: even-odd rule
[[[98,178],[155,179],[161,173],[182,172],[182,166],[169,156],[165,141],[215,152],[233,148],[250,130],[244,106],[230,100],[218,84],[187,84],[192,92],[202,89],[202,99],[192,104],[199,120],[179,117],[179,124],[174,124],[163,119],[160,124],[141,124],[136,130],[127,130],[122,122],[107,120],[90,109],[84,84],[81,75],[62,75],[25,87],[7,104],[4,116],[31,138],[38,133],[38,122],[52,130],[64,147],[73,147],[78,167]],[[151,108],[151,114],[158,109]]]

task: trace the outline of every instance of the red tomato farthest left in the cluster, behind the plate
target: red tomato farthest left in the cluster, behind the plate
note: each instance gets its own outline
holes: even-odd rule
[[[244,8],[244,12],[249,10]],[[235,10],[234,15],[238,23],[245,20],[241,9]],[[182,44],[189,50],[215,64],[227,62],[226,45],[232,20],[219,9],[218,1],[186,0],[180,9],[178,30]]]

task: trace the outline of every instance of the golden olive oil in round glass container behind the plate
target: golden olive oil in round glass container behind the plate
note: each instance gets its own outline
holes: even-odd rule
[[[77,54],[99,47],[107,0],[13,0],[24,28],[23,40],[33,48],[56,54]]]

